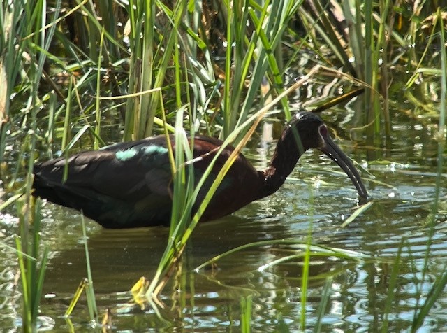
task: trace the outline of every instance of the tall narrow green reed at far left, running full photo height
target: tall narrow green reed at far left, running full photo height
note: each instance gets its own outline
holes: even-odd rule
[[[54,20],[57,19],[61,8],[61,1],[55,4]],[[27,24],[24,31],[28,35],[31,34],[31,29],[34,31],[41,31],[40,34],[34,34],[29,38],[25,38],[24,48],[26,48],[30,59],[30,66],[28,75],[34,78],[30,83],[30,95],[27,101],[27,111],[31,115],[31,134],[29,137],[29,160],[27,161],[27,174],[24,201],[19,201],[17,204],[17,213],[20,217],[20,239],[17,239],[18,260],[20,265],[20,274],[22,281],[22,295],[23,295],[23,315],[22,325],[25,332],[35,332],[37,328],[38,306],[40,304],[43,279],[45,276],[45,268],[47,263],[48,248],[44,248],[43,253],[39,255],[40,251],[40,227],[41,227],[41,212],[39,205],[31,209],[31,184],[32,171],[34,167],[34,152],[36,148],[36,129],[37,129],[37,113],[41,105],[41,100],[38,98],[38,88],[40,85],[40,78],[43,73],[43,64],[47,50],[50,47],[52,36],[54,34],[54,24],[50,29],[45,31],[42,27],[46,26],[46,3],[45,1],[36,1],[35,3],[27,2],[24,4],[22,17]],[[45,52],[38,53],[35,45]],[[12,83],[12,82],[9,82]],[[30,234],[29,223],[34,222],[33,233]],[[22,255],[26,253],[31,257],[41,257],[40,262],[36,260],[28,260]]]

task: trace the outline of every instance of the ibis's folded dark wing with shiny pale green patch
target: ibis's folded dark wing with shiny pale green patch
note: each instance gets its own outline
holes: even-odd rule
[[[68,159],[60,157],[36,166],[35,173],[47,185],[124,201],[137,201],[151,193],[168,195],[171,179],[168,149],[160,139],[119,143]]]

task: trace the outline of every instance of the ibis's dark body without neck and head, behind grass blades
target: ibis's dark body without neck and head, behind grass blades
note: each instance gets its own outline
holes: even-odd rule
[[[196,180],[202,176],[220,145],[221,141],[217,139],[195,138]],[[219,156],[212,175],[198,195],[196,206],[205,197],[232,150],[230,147]],[[34,173],[34,195],[78,209],[103,227],[145,227],[170,222],[173,182],[165,136],[117,143],[68,159],[60,157],[37,164]],[[247,180],[256,183],[257,177],[257,171],[240,155],[202,220],[220,218],[253,201],[247,189],[237,187]]]

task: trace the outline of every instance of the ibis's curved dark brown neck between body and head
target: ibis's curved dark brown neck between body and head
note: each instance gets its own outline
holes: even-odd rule
[[[302,147],[297,143],[297,139],[289,129],[278,140],[270,165],[262,171],[264,177],[263,197],[276,192],[284,184],[301,155],[307,150],[307,147]]]

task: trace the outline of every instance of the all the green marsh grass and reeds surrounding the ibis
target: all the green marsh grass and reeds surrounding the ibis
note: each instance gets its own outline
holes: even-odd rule
[[[40,203],[35,205],[31,199],[34,162],[101,148],[117,140],[175,133],[176,146],[182,149],[175,155],[170,152],[174,190],[168,243],[155,276],[147,276],[149,283],[142,283],[144,288],[135,296],[138,304],[149,303],[159,313],[159,296],[175,270],[182,267],[182,253],[200,214],[232,158],[247,145],[263,119],[288,120],[298,107],[321,112],[339,103],[349,104],[360,93],[351,115],[351,139],[359,145],[390,147],[395,125],[392,108],[399,108],[400,116],[437,125],[438,149],[433,157],[436,190],[432,210],[424,221],[428,241],[420,281],[426,281],[441,180],[445,178],[445,10],[430,1],[410,4],[386,0],[3,1],[0,210],[20,217],[13,233],[17,234],[24,330],[32,332],[38,325],[38,304],[51,250],[41,244],[45,240],[39,236]],[[391,73],[404,76],[403,87]],[[399,107],[402,95],[406,102]],[[203,205],[192,216],[200,185],[211,169],[195,185],[193,173],[186,172],[189,166],[185,162],[192,158],[186,132],[219,137],[225,145],[235,146]],[[371,149],[362,159],[380,157]],[[353,213],[353,218],[366,208]],[[361,253],[312,245],[311,236],[304,243],[274,239],[234,250],[278,246],[282,254],[259,267],[260,271],[284,262],[302,264],[302,329],[307,327],[309,280],[326,281],[315,326],[321,327],[323,304],[330,298],[330,281],[337,272],[311,277],[309,262],[316,257],[376,260]],[[11,250],[6,243],[2,245]],[[400,251],[406,246],[402,241]],[[213,267],[231,253],[214,257],[203,267]],[[388,297],[382,309],[383,332],[399,291],[400,258],[401,252],[391,264]],[[412,331],[423,325],[441,295],[447,281],[445,267],[442,271],[428,292],[416,285],[419,296]],[[95,319],[93,288],[89,290],[89,318]],[[243,332],[250,329],[252,303],[247,290],[240,292]],[[278,329],[286,332],[286,322],[281,318],[277,322]]]

